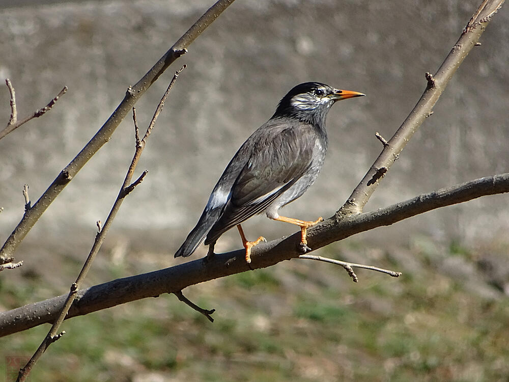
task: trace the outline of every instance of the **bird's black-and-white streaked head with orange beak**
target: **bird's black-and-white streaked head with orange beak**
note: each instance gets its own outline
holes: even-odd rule
[[[295,86],[279,101],[272,118],[286,116],[322,125],[334,102],[364,95],[359,92],[335,89],[318,82],[306,82]]]

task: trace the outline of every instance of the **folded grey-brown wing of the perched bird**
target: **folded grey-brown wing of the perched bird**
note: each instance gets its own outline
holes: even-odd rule
[[[306,127],[302,129],[297,121],[283,125],[277,119],[270,120],[244,143],[229,167],[239,162],[244,166],[233,183],[230,199],[207,235],[206,245],[262,212],[306,173],[316,142],[313,127]]]

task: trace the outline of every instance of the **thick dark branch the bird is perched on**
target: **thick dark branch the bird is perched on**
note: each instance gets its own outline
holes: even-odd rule
[[[310,247],[316,250],[331,242],[377,227],[388,226],[436,208],[507,192],[509,192],[509,173],[480,178],[453,187],[442,188],[429,194],[422,194],[376,211],[351,215],[344,219],[332,217],[309,229],[307,239]],[[283,260],[298,257],[300,255],[298,252],[300,239],[300,232],[298,232],[289,237],[260,243],[252,250],[250,265],[253,268],[265,268]],[[117,279],[79,290],[66,318],[162,293],[179,292],[190,285],[244,272],[249,270],[244,255],[244,249],[216,254],[207,262],[198,259],[171,268]],[[52,322],[62,309],[66,296],[49,298],[0,313],[0,336]]]

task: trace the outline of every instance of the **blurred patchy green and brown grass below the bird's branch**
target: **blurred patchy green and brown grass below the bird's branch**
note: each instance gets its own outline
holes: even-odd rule
[[[507,382],[507,298],[472,292],[469,283],[480,274],[462,280],[439,266],[448,256],[473,261],[476,249],[442,248],[421,237],[400,248],[404,256],[382,251],[375,261],[375,251],[359,243],[334,247],[345,256],[350,250],[403,276],[359,270],[353,283],[341,267],[292,260],[186,290],[191,301],[217,310],[214,323],[173,295],[76,317],[64,323],[67,334],[44,354],[32,380]],[[406,259],[418,270],[406,270]],[[139,260],[128,255],[125,268]],[[101,271],[104,280],[124,276],[118,268]],[[48,292],[44,278],[30,272],[21,281],[0,279],[1,305],[64,292]],[[2,360],[30,356],[47,330],[0,339]]]

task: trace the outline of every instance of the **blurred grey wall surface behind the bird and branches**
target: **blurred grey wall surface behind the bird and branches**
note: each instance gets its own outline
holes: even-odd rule
[[[16,89],[19,117],[68,93],[47,115],[0,141],[0,238],[106,121],[135,83],[212,0],[60,2],[0,10],[0,77]],[[187,63],[151,136],[138,174],[149,174],[117,217],[119,234],[154,237],[173,253],[210,190],[248,135],[294,85],[318,80],[367,97],[329,113],[328,157],[310,190],[284,210],[302,219],[340,207],[403,122],[457,41],[479,1],[238,0],[136,105],[146,125],[174,70]],[[434,189],[509,171],[509,11],[505,6],[460,67],[366,210]],[[0,116],[9,118],[0,87]],[[43,215],[26,240],[91,239],[115,200],[134,150],[131,117]],[[506,235],[509,196],[486,197],[362,237],[410,235],[473,241]],[[294,227],[255,217],[249,237]],[[115,233],[114,232],[114,233]],[[371,236],[370,236],[371,235]],[[220,245],[219,245],[220,244]],[[238,248],[236,232],[219,250]],[[205,253],[205,249],[201,250]],[[170,261],[171,262],[171,261]]]

